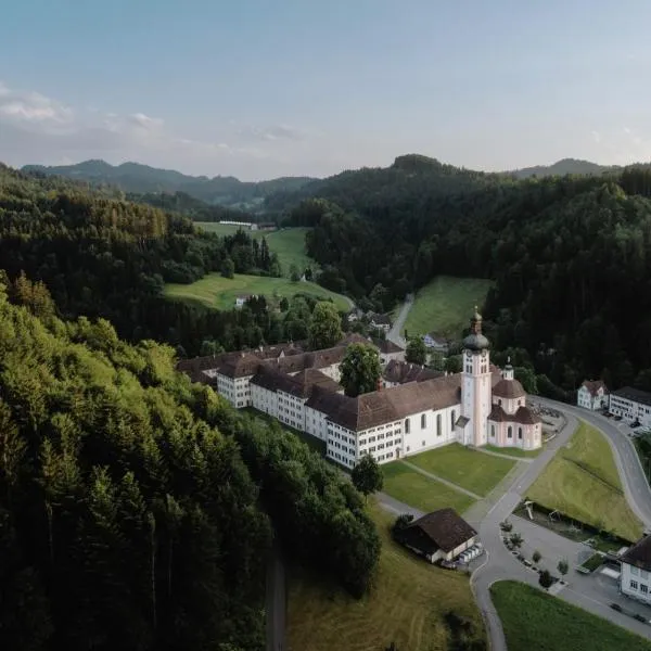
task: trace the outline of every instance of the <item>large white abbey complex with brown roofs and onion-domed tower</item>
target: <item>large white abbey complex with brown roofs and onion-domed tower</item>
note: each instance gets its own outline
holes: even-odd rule
[[[186,360],[179,370],[210,384],[237,408],[253,407],[321,439],[327,456],[346,468],[363,455],[386,463],[451,443],[523,450],[541,446],[540,419],[527,407],[513,368],[490,363],[476,308],[463,340],[460,373],[414,369],[396,358],[400,348],[384,344],[379,353],[385,382],[352,398],[339,384],[339,366],[347,346],[359,342],[369,344],[356,334],[326,350],[280,344]]]

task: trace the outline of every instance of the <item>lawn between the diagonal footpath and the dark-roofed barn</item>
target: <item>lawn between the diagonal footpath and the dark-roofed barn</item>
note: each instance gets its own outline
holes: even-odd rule
[[[414,509],[436,511],[451,507],[457,513],[463,513],[473,505],[472,498],[464,493],[431,480],[401,461],[383,464],[382,473],[384,474],[382,490]]]

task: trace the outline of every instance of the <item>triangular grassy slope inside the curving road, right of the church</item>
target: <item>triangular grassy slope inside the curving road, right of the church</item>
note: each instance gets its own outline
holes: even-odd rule
[[[635,541],[642,523],[628,507],[608,441],[587,423],[534,482],[528,499]]]

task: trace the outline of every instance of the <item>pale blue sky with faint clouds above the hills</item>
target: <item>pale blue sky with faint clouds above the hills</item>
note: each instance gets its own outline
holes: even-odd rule
[[[651,161],[649,0],[0,0],[0,161]]]

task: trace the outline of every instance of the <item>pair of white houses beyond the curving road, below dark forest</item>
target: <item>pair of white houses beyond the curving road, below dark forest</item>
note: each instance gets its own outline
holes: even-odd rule
[[[586,380],[576,392],[576,405],[608,411],[631,425],[651,429],[651,393],[625,386],[610,393],[601,380]]]

